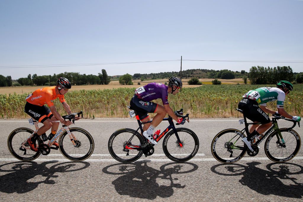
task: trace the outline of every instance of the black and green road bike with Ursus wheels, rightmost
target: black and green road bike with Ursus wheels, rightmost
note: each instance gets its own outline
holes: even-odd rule
[[[237,109],[239,112],[243,113],[242,110]],[[266,137],[268,137],[264,144],[265,155],[271,160],[278,163],[286,162],[291,160],[298,154],[301,146],[301,138],[299,134],[293,130],[296,121],[285,118],[283,116],[278,116],[273,114],[271,120],[272,126],[268,131],[259,137],[259,139],[251,143],[253,152],[248,149],[246,144],[244,144],[242,138],[249,134],[248,125],[255,125],[261,123],[247,123],[245,115],[244,119],[240,120],[240,124],[245,124],[245,128],[239,131],[238,129],[229,128],[219,132],[211,142],[211,153],[218,161],[230,164],[239,161],[244,157],[247,152],[248,156],[255,156],[259,152],[258,145],[261,144]],[[279,128],[278,120],[284,119],[286,121],[293,122],[293,126],[289,128]],[[298,122],[300,127],[300,123]]]

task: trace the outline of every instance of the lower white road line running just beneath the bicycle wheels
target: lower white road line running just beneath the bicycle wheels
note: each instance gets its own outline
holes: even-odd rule
[[[151,157],[141,157],[138,161],[142,161],[142,160],[150,160],[152,162],[173,162],[171,160],[169,160],[168,158],[165,159],[157,159],[157,158],[151,158]],[[303,160],[303,157],[294,157],[292,159],[293,160]],[[3,161],[10,161],[10,162],[15,162],[15,161],[19,161],[16,158],[0,158],[0,162]],[[60,158],[60,159],[55,159],[55,158],[37,158],[34,161],[36,162],[45,162],[45,161],[59,161],[59,162],[72,162],[68,159],[65,158]],[[115,159],[93,159],[93,158],[88,158],[85,160],[86,162],[118,162]],[[191,160],[189,160],[191,162],[201,162],[201,161],[217,161],[215,158],[192,158]],[[242,158],[240,161],[270,161],[267,157],[244,157]],[[21,162],[21,161],[20,161]]]

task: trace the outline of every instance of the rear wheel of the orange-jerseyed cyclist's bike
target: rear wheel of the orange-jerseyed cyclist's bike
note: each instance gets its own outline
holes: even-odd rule
[[[7,146],[9,152],[20,161],[33,161],[39,157],[40,152],[32,151],[29,145],[24,148],[25,151],[20,150],[21,144],[27,140],[27,138],[33,133],[34,131],[30,128],[17,128],[8,135],[7,139]]]

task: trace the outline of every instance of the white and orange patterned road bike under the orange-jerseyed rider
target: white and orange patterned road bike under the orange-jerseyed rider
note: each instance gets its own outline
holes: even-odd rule
[[[68,114],[62,116],[75,123],[76,115],[82,116],[83,112]],[[32,151],[27,142],[28,138],[32,137],[38,131],[38,122],[32,118],[28,119],[31,125],[35,126],[35,131],[30,128],[21,127],[11,132],[8,136],[7,145],[11,154],[21,161],[32,161],[42,155],[48,155],[51,149],[60,150],[62,155],[71,161],[84,161],[90,157],[94,151],[94,140],[86,130],[79,127],[72,127],[63,125],[60,130],[49,140],[46,144],[41,136],[37,139],[38,151]],[[52,121],[60,122],[60,121]],[[52,147],[55,141],[58,140],[59,147]]]

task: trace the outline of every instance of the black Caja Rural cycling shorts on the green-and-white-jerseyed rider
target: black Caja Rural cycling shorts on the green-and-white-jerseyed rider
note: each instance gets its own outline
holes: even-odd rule
[[[239,102],[238,108],[251,121],[258,121],[261,124],[268,124],[270,122],[268,115],[259,107],[258,102],[255,100],[243,98]]]

